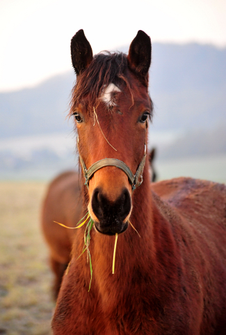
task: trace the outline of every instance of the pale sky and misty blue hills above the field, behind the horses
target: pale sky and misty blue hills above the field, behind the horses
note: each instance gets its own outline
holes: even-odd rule
[[[82,28],[94,53],[128,52],[138,29],[151,36],[159,179],[225,181],[225,14],[224,0],[1,0],[0,179],[48,180],[76,167],[66,117],[70,39]]]

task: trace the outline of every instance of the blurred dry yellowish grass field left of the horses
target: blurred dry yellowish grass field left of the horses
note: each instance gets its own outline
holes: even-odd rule
[[[39,223],[45,188],[0,182],[0,334],[51,334],[52,275]]]

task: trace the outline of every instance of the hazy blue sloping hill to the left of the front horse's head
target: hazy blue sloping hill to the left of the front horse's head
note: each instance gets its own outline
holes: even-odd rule
[[[74,84],[70,71],[37,87],[0,94],[0,137],[69,131],[66,119]]]

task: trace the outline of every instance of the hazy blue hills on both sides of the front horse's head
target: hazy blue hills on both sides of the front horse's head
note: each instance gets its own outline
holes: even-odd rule
[[[124,48],[126,50],[127,48]],[[0,94],[0,137],[70,132],[65,120],[73,71]],[[150,93],[155,131],[212,128],[225,119],[226,48],[154,43]]]

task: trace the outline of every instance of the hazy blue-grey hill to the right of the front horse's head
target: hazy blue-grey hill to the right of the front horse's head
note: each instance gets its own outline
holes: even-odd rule
[[[218,126],[226,114],[226,49],[154,45],[150,91],[156,129]]]

